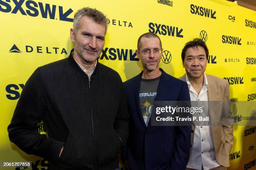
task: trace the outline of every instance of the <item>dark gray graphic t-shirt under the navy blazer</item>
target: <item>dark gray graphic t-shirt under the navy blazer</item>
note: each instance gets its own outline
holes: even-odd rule
[[[154,99],[156,97],[157,87],[159,84],[160,77],[154,79],[143,79],[141,78],[141,87],[140,87],[140,106],[142,116],[144,118],[146,126],[151,116],[151,109],[153,106]]]

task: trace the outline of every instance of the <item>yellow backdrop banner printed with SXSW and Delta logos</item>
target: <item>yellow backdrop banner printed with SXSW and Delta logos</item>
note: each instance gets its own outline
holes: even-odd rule
[[[154,32],[164,52],[160,67],[174,77],[184,74],[181,51],[199,37],[209,48],[206,73],[228,80],[230,100],[256,100],[256,12],[226,0],[0,0],[0,161],[32,161],[48,169],[48,160],[27,155],[10,143],[7,126],[28,77],[49,62],[69,55],[74,13],[93,7],[109,19],[99,62],[118,71],[122,80],[141,72],[138,37]],[[234,122],[244,121],[242,110]],[[255,115],[254,115],[255,116]],[[234,127],[229,170],[256,169],[256,126]],[[38,132],[46,133],[44,123]],[[3,167],[2,167],[3,168]],[[9,168],[7,168],[9,169]],[[22,168],[16,168],[22,169]],[[30,169],[30,168],[28,168]]]

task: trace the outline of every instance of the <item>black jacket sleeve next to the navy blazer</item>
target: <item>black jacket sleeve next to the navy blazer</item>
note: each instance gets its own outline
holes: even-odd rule
[[[118,113],[115,118],[114,128],[118,136],[122,140],[122,144],[126,143],[129,131],[129,112],[127,102],[124,95],[123,83],[120,78],[120,101],[118,105]],[[121,141],[120,141],[121,142]]]

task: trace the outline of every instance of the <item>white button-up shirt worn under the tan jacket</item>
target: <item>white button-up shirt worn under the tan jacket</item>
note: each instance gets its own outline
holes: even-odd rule
[[[207,78],[204,73],[204,84],[199,94],[194,90],[190,84],[189,78],[186,74],[186,82],[189,87],[189,95],[191,101],[197,101],[197,107],[204,105],[204,109],[208,112],[208,92],[207,92]],[[207,102],[198,102],[207,101]],[[204,113],[202,113],[204,114]],[[205,113],[205,115],[208,115]],[[212,168],[218,167],[220,164],[217,163],[215,158],[215,150],[212,142],[212,131],[210,126],[200,126],[195,125],[194,141],[192,144],[192,149],[189,156],[189,162],[187,168],[192,168],[195,170],[210,170]]]

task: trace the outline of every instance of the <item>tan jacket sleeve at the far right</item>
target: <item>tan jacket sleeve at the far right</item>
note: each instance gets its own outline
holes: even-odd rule
[[[224,93],[224,103],[223,103],[223,118],[222,118],[222,127],[224,131],[224,135],[226,138],[226,148],[228,152],[230,152],[233,145],[233,118],[231,115],[231,105],[229,98],[229,84],[228,81],[225,85],[225,93]]]

